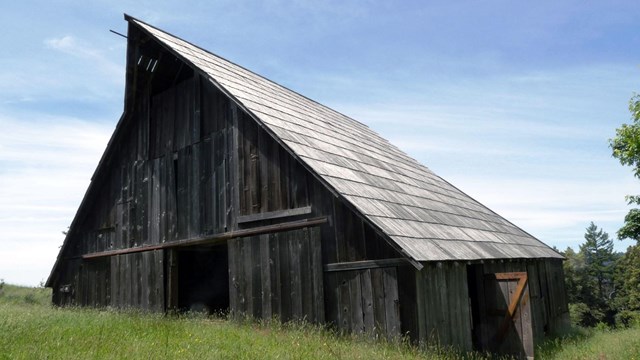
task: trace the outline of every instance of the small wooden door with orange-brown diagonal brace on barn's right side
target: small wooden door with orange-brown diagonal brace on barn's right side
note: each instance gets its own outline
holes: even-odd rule
[[[484,350],[533,359],[533,331],[526,272],[484,275]]]

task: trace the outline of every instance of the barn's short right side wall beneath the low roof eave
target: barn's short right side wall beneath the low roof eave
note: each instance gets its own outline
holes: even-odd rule
[[[421,271],[415,271],[417,334],[422,342],[463,350],[491,350],[508,306],[508,296],[516,288],[515,281],[501,282],[502,289],[492,288],[487,276],[494,273],[526,272],[528,277],[522,298],[522,304],[528,306],[518,308],[516,323],[508,329],[500,352],[533,352],[535,344],[545,336],[562,332],[567,326],[568,307],[560,260],[424,265]],[[506,295],[501,298],[492,292]]]

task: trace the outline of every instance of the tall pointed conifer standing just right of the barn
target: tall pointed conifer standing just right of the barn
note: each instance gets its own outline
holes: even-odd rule
[[[584,256],[586,273],[595,282],[597,302],[606,304],[613,293],[613,270],[615,256],[613,240],[609,234],[591,222],[584,234],[585,243],[580,245],[580,252]]]

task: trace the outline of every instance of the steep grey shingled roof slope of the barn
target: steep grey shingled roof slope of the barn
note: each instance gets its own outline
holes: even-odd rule
[[[126,16],[227,93],[416,261],[561,258],[366,125]]]

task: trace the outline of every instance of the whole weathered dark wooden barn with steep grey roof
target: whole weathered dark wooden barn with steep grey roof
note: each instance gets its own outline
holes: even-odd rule
[[[53,303],[229,311],[532,356],[562,257],[345,115],[130,16],[124,112]]]

